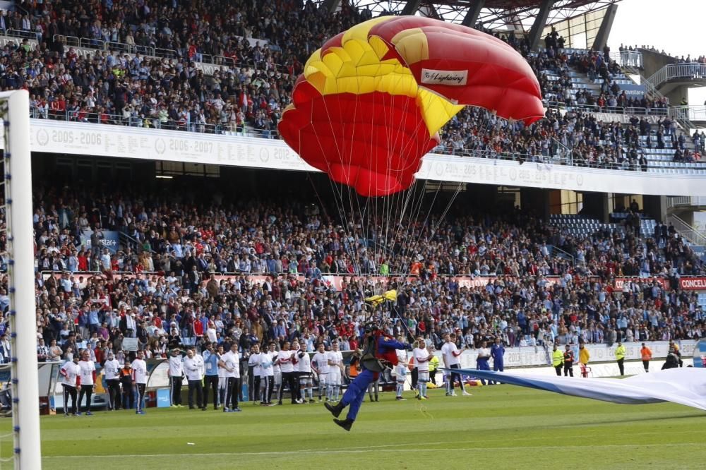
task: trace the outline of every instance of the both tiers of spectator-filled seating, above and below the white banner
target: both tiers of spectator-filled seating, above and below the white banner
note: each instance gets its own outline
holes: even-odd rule
[[[306,56],[369,14],[264,0],[19,4],[26,13],[0,18],[6,34],[25,38],[0,52],[0,86],[30,90],[35,118],[263,137],[276,136]],[[702,169],[704,135],[689,140],[664,112],[666,102],[621,93],[617,85],[628,78],[608,54],[558,44],[530,53],[523,39],[505,40],[537,73],[547,119],[523,128],[465,109],[438,152],[674,174]],[[208,74],[199,63],[218,67]],[[599,121],[590,112],[633,119]],[[237,339],[243,351],[294,337],[310,351],[333,341],[354,349],[364,297],[393,287],[397,307],[375,313],[385,330],[404,334],[404,323],[436,347],[456,330],[469,347],[496,336],[508,346],[542,346],[698,338],[705,326],[706,299],[676,282],[703,275],[702,261],[676,231],[635,212],[615,214],[610,224],[580,215],[542,222],[519,211],[435,213],[443,219],[435,233],[419,224],[413,243],[378,250],[374,238],[350,246],[340,220],[326,216],[337,212],[313,198],[204,204],[145,188],[45,183],[35,194],[37,334],[47,345],[56,341],[60,357],[81,346],[100,361],[108,349],[122,354],[126,337],[136,337],[148,357],[163,356],[171,346],[202,347],[210,327],[217,341]],[[102,251],[100,230],[135,242]],[[95,233],[92,248],[84,231]],[[616,277],[625,278],[621,289]],[[125,321],[131,315],[134,329]]]

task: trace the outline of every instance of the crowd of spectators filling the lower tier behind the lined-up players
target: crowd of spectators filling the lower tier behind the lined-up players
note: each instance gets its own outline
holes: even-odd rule
[[[349,350],[370,315],[363,299],[391,288],[396,306],[373,315],[395,335],[406,326],[437,346],[452,330],[468,347],[496,335],[508,346],[542,346],[695,338],[704,326],[695,294],[650,280],[704,272],[673,230],[579,237],[517,210],[460,213],[436,231],[410,222],[409,238],[385,251],[309,201],[203,205],[43,188],[35,207],[37,331],[59,356],[88,344],[121,351],[126,337],[148,356],[227,337],[246,351],[294,337],[309,350],[333,341]],[[127,231],[141,246],[112,254],[100,248],[101,229]],[[346,279],[332,284],[327,274]],[[496,279],[461,287],[450,275]],[[641,277],[616,290],[621,276]]]

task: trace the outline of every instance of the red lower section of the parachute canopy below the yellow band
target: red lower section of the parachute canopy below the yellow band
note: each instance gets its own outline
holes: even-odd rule
[[[280,121],[282,138],[311,166],[361,195],[408,188],[430,138],[416,100],[383,92],[322,96],[306,81],[292,94],[295,109]]]

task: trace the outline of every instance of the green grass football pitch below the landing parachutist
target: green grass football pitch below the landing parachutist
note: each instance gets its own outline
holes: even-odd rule
[[[352,431],[323,404],[97,411],[42,417],[46,469],[702,469],[706,413],[618,405],[510,385],[472,397],[366,402]],[[408,398],[411,393],[406,392]],[[2,431],[11,421],[1,421]],[[2,442],[2,456],[11,442]],[[9,467],[8,464],[6,464]]]

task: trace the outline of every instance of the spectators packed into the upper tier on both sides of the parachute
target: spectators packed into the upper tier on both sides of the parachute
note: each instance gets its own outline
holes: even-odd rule
[[[0,17],[0,28],[37,32],[40,45],[33,50],[25,40],[16,49],[8,45],[0,52],[0,88],[27,88],[33,116],[207,133],[254,131],[266,137],[276,134],[294,78],[309,54],[325,38],[371,17],[367,9],[345,7],[330,14],[311,2],[298,1],[92,0],[20,2],[20,6],[23,10]],[[607,50],[566,54],[562,38],[551,32],[546,47],[531,52],[525,37],[491,33],[525,56],[548,102],[605,112],[666,107],[666,102],[647,97],[627,97],[614,83],[620,70]],[[96,50],[87,57],[66,44],[66,37],[135,47],[129,54],[116,46],[114,52]],[[261,38],[262,43],[252,38]],[[174,54],[145,55],[154,48]],[[206,75],[198,63],[207,59],[223,67]],[[601,94],[573,90],[571,70],[601,78]],[[549,80],[546,71],[559,79]],[[566,117],[550,111],[547,118],[525,128],[483,109],[465,109],[446,126],[436,151],[647,169],[639,143],[627,150],[619,145],[625,125],[582,126],[574,113]],[[592,119],[578,118],[587,120]],[[663,133],[676,133],[669,119],[664,121]],[[654,130],[659,128],[658,123]],[[644,129],[639,131],[644,135]],[[675,161],[692,161],[683,157],[683,146],[681,150]]]

